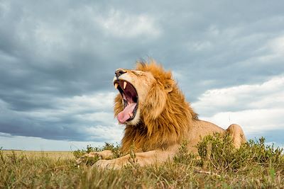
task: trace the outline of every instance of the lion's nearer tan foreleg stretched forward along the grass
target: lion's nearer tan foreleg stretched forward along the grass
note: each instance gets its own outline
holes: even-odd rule
[[[117,159],[99,160],[96,164],[94,164],[94,166],[97,166],[98,168],[121,168],[122,166],[131,164],[133,161],[140,166],[147,166],[155,163],[162,163],[168,159],[173,159],[173,156],[175,156],[177,151],[178,147],[174,147],[167,151],[153,150],[140,152],[136,153],[134,157],[127,154],[126,156],[122,156]]]

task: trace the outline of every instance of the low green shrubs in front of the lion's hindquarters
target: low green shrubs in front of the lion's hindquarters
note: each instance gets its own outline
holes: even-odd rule
[[[275,148],[273,145],[265,145],[265,138],[258,141],[252,139],[236,149],[229,134],[221,137],[216,133],[204,137],[197,144],[201,165],[216,170],[236,171],[241,167],[252,164],[261,164],[279,167],[284,164],[283,149]]]

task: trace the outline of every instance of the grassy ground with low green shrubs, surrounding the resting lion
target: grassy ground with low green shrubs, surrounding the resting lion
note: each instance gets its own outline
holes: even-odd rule
[[[97,159],[75,166],[75,156],[93,150],[111,149],[120,156],[114,144],[60,157],[1,151],[0,188],[284,188],[283,151],[264,142],[250,140],[234,149],[229,136],[215,134],[198,144],[199,156],[183,142],[173,162],[121,170],[93,168]]]

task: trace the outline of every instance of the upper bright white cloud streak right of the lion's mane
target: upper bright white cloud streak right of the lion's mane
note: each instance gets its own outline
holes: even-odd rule
[[[241,85],[205,91],[192,106],[203,115],[212,115],[235,107],[254,108],[284,107],[284,76],[276,76],[263,84]]]

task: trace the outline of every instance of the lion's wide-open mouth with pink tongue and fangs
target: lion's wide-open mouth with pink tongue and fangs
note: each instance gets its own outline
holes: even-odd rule
[[[124,99],[124,110],[117,115],[117,119],[121,123],[133,120],[138,109],[138,93],[136,89],[131,83],[124,80],[114,81],[114,86]]]

